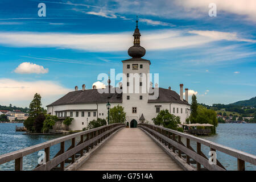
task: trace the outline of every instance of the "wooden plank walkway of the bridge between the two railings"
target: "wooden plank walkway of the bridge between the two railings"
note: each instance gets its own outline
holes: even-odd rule
[[[82,166],[87,170],[182,170],[140,129],[122,129]]]

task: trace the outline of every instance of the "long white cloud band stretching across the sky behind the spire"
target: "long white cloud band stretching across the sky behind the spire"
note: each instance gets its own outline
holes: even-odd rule
[[[214,31],[187,31],[153,30],[143,31],[141,45],[146,50],[173,49],[182,47],[196,47],[209,42],[220,40]],[[94,52],[126,51],[133,44],[133,32],[106,33],[106,34],[70,34],[56,32],[0,32],[0,44],[14,47],[57,47],[81,49]],[[196,34],[196,35],[195,35]],[[221,39],[233,40],[227,32]],[[210,37],[210,39],[209,39]],[[227,37],[231,37],[228,39]],[[237,39],[253,42],[249,39]]]

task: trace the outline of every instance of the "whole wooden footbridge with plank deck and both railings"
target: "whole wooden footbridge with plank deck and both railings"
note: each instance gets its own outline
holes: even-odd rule
[[[65,143],[71,143],[65,150]],[[191,143],[195,143],[195,149]],[[51,159],[50,148],[60,143],[60,151]],[[175,130],[141,123],[125,128],[122,123],[98,127],[49,140],[19,151],[0,155],[0,165],[15,160],[15,170],[23,169],[23,157],[44,150],[46,163],[34,170],[221,170],[217,160],[210,164],[202,147],[237,158],[237,169],[245,162],[256,165],[256,156],[222,146]]]

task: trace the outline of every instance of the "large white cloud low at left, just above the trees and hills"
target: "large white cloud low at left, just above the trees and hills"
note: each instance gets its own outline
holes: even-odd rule
[[[45,99],[52,96],[63,96],[69,91],[53,81],[19,81],[0,78],[0,98],[3,102],[31,101],[35,93],[39,93],[42,99]]]

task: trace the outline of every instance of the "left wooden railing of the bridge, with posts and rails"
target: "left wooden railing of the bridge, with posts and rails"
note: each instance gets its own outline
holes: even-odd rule
[[[97,144],[104,142],[106,138],[108,138],[111,134],[121,129],[122,127],[125,127],[125,124],[114,123],[111,125],[101,126],[96,129],[81,131],[79,133],[36,144],[35,146],[3,154],[0,155],[0,165],[15,160],[15,171],[22,171],[24,156],[40,150],[44,150],[46,154],[46,164],[38,164],[34,170],[64,170],[65,163],[74,163],[77,158],[80,158],[82,155],[86,154],[86,152],[89,152],[94,146],[97,146]],[[76,138],[80,138],[80,141],[77,144]],[[71,140],[71,146],[65,151],[65,142],[69,140]],[[57,154],[52,159],[50,159],[50,147],[59,143],[59,152],[57,152]]]

